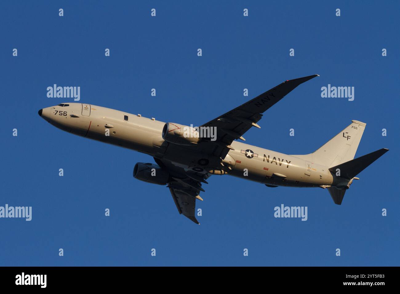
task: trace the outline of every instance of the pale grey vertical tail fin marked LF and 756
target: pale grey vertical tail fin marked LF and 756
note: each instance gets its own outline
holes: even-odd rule
[[[365,126],[364,122],[352,120],[342,132],[312,153],[312,162],[331,167],[352,160]]]

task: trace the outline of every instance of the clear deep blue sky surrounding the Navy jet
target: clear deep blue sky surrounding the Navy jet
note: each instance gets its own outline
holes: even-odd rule
[[[398,266],[399,9],[398,1],[2,2],[0,206],[33,212],[30,222],[0,219],[0,265]],[[246,142],[306,154],[350,120],[366,122],[356,157],[390,151],[341,206],[320,188],[212,176],[198,226],[178,214],[167,188],[132,177],[151,157],[68,134],[37,114],[68,101],[47,98],[57,84],[80,86],[80,102],[200,125],[311,74],[320,77],[264,113]],[[354,101],[321,98],[328,84],[354,86]],[[282,203],[308,206],[308,220],[274,218]]]

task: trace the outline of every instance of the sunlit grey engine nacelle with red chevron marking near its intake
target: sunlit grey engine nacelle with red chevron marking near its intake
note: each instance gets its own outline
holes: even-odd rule
[[[193,145],[200,142],[200,134],[195,128],[167,122],[162,128],[162,138],[178,145]]]

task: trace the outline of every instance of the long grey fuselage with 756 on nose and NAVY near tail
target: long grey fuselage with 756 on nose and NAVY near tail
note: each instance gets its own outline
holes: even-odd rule
[[[163,158],[188,170],[218,174],[223,164],[229,168],[227,174],[270,186],[319,187],[334,183],[328,167],[312,163],[311,158],[308,161],[234,141],[231,144],[234,150],[229,150],[221,160],[194,152],[192,146],[164,141],[165,123],[153,118],[90,104],[61,105],[43,108],[39,114],[66,132]]]

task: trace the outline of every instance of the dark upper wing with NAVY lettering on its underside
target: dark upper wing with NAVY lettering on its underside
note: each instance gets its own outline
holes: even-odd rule
[[[207,142],[208,144],[201,144],[201,149],[203,149],[202,151],[208,151],[207,153],[212,153],[221,158],[225,158],[231,148],[230,144],[233,140],[244,140],[243,134],[252,126],[260,128],[257,122],[261,119],[263,112],[281,100],[298,85],[315,78],[316,76],[318,76],[318,74],[294,80],[287,80],[260,96],[257,96],[235,109],[218,116],[206,124],[203,124],[202,127],[216,127],[217,136],[216,141],[210,141],[215,144],[210,145],[209,142]],[[208,150],[206,150],[207,148]]]

